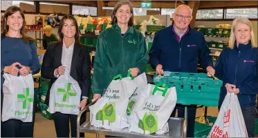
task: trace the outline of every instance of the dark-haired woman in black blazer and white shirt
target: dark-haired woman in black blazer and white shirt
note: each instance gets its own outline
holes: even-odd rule
[[[91,60],[89,50],[79,41],[79,30],[77,21],[71,15],[65,15],[58,28],[60,40],[49,43],[42,63],[42,77],[50,79],[50,85],[46,95],[45,103],[48,105],[50,88],[60,75],[68,73],[79,83],[82,90],[80,108],[86,106],[90,91]],[[57,137],[69,137],[69,120],[71,124],[71,137],[76,135],[77,115],[53,114]],[[85,117],[82,118],[85,121]],[[82,133],[80,137],[84,137]]]

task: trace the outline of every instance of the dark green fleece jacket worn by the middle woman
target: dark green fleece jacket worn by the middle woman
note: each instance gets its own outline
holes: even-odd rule
[[[145,72],[148,61],[147,46],[142,34],[129,27],[122,37],[120,27],[114,24],[100,33],[94,58],[93,94],[102,94],[113,77],[127,77],[130,68]]]

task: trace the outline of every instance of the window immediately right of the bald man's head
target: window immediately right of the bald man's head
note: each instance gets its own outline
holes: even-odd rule
[[[198,10],[196,19],[223,19],[223,9]]]

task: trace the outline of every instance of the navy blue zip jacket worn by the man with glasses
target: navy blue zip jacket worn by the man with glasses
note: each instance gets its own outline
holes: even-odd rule
[[[173,24],[155,34],[153,45],[149,52],[152,68],[156,68],[158,64],[161,64],[164,71],[197,72],[199,59],[201,59],[203,68],[213,67],[210,49],[203,34],[190,27],[188,30],[179,43]]]

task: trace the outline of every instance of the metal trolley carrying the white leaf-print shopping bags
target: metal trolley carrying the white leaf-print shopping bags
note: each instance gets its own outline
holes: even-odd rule
[[[113,131],[107,130],[104,128],[96,128],[91,126],[91,122],[85,121],[82,125],[80,125],[82,113],[88,110],[89,106],[93,105],[94,103],[88,104],[84,110],[81,110],[77,116],[77,137],[80,137],[80,132],[87,132],[96,134],[96,137],[99,135],[111,135],[115,137],[186,137],[187,131],[187,108],[185,108],[185,119],[179,117],[170,117],[168,121],[169,125],[169,132],[165,134],[158,135],[158,134],[151,134],[151,135],[142,135],[136,132],[129,132],[128,128],[125,128],[121,131]]]

